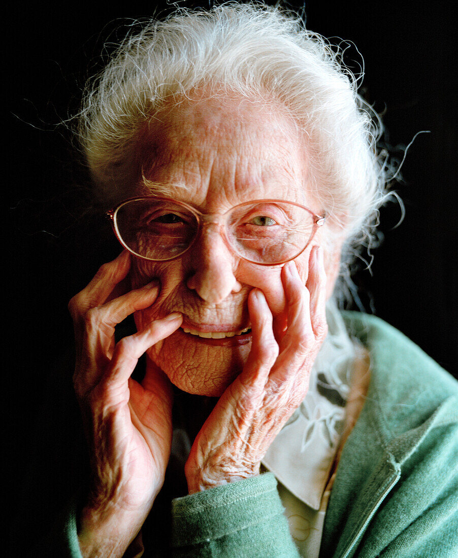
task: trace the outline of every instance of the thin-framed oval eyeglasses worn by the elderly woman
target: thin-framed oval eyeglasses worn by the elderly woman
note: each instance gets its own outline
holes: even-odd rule
[[[247,201],[223,214],[203,214],[183,201],[159,197],[122,201],[107,217],[122,246],[142,259],[165,262],[179,258],[204,227],[214,224],[232,252],[260,266],[299,256],[326,219],[292,201]]]

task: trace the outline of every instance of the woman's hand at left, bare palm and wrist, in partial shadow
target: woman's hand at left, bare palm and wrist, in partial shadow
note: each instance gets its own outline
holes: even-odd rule
[[[147,359],[141,384],[130,376],[138,359],[182,323],[178,313],[155,320],[115,344],[114,326],[151,306],[158,281],[117,296],[130,254],[104,264],[71,299],[76,366],[74,387],[91,461],[87,500],[79,517],[83,556],[122,556],[143,525],[164,482],[171,445],[172,392]]]

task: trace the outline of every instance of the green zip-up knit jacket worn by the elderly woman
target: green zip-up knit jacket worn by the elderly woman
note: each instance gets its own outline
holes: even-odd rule
[[[369,350],[371,380],[338,465],[320,558],[456,558],[458,382],[384,321],[343,315]],[[271,473],[175,499],[172,518],[172,556],[298,556]],[[61,556],[79,558],[74,513],[54,541]]]

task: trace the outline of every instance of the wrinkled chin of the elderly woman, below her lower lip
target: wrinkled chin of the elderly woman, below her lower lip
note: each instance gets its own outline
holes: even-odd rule
[[[148,355],[171,383],[193,395],[220,397],[242,371],[251,343],[212,346],[175,332]]]

